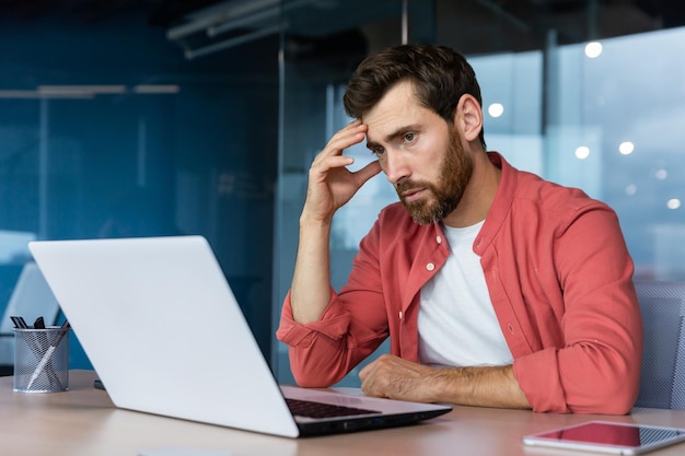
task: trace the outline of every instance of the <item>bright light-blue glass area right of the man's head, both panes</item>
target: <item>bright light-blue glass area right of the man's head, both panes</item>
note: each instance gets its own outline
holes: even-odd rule
[[[685,70],[674,58],[683,51],[685,28],[675,28],[556,46],[548,56],[471,59],[492,113],[489,148],[612,206],[638,278],[685,280]]]

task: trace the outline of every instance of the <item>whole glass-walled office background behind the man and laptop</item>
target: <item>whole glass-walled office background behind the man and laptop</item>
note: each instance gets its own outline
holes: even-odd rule
[[[130,4],[85,19],[38,3],[31,16],[0,7],[0,308],[30,239],[202,234],[289,381],[272,335],[310,163],[349,121],[340,102],[359,61],[405,42],[465,51],[489,149],[612,204],[640,277],[685,280],[682,16],[626,10],[645,2],[189,0],[174,25]],[[674,28],[636,33],[661,25]],[[340,210],[335,287],[395,198],[380,175]]]

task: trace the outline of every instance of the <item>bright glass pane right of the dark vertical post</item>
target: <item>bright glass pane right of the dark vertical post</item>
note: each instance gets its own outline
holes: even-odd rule
[[[550,177],[608,202],[640,278],[685,280],[685,28],[562,47]]]

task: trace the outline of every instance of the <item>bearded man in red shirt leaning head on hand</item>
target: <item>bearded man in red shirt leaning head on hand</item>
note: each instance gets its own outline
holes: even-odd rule
[[[314,160],[278,338],[302,386],[360,371],[370,396],[626,413],[642,326],[615,213],[486,152],[480,89],[464,57],[404,45],[363,61],[345,94],[357,120]],[[345,149],[378,157],[351,173]],[[381,211],[348,283],[329,280],[334,213],[381,171]]]

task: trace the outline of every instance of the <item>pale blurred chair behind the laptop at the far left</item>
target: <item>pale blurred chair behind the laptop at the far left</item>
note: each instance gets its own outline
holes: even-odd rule
[[[0,375],[12,375],[14,366],[14,324],[12,316],[20,316],[27,325],[43,317],[46,325],[55,325],[59,304],[43,273],[34,261],[24,265],[12,295],[0,320]]]

